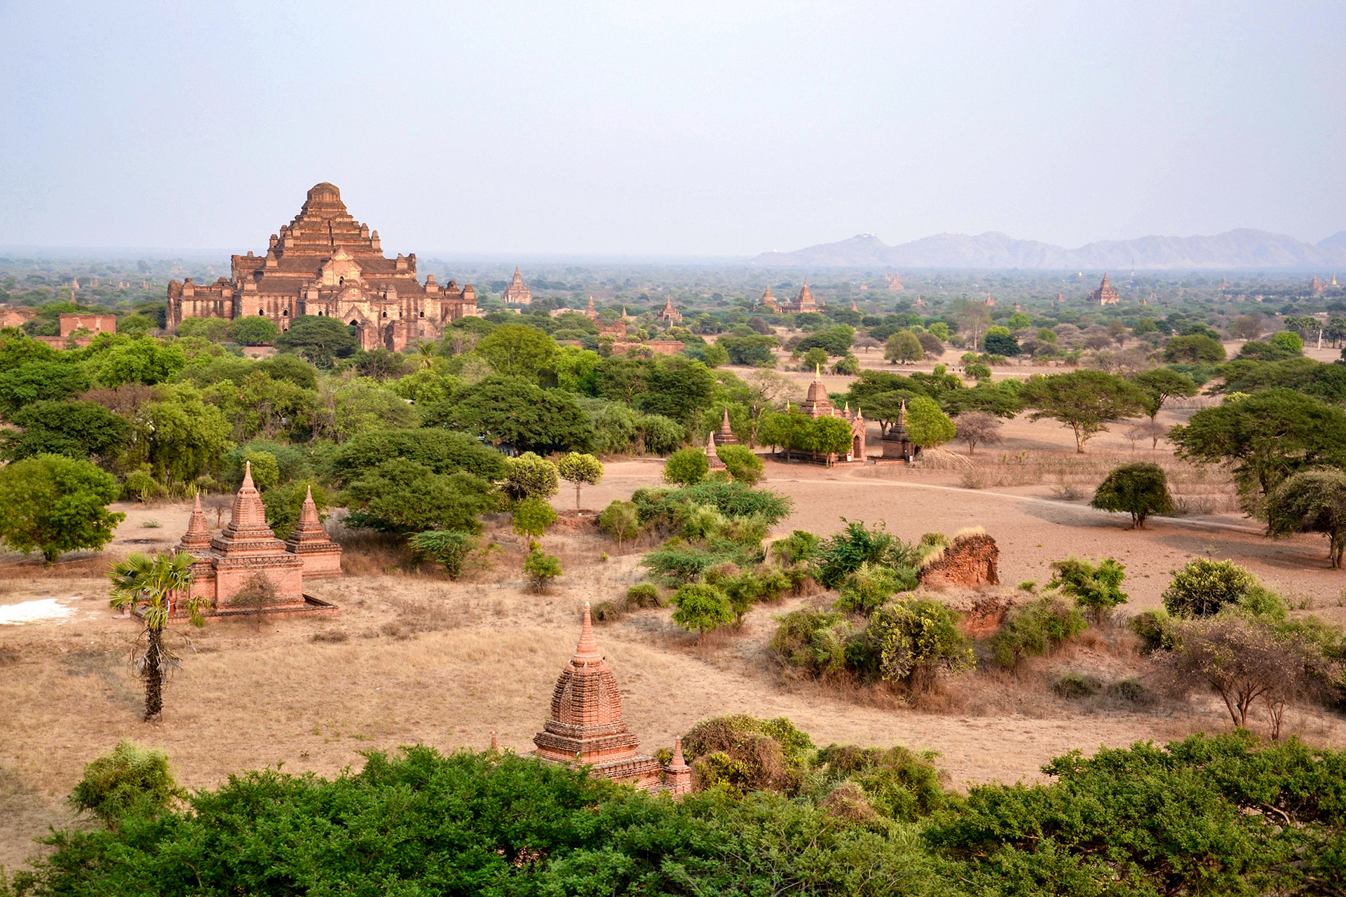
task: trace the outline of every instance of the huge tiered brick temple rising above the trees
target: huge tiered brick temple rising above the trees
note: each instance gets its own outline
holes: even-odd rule
[[[299,214],[271,235],[264,256],[232,257],[232,273],[214,284],[168,282],[168,327],[187,317],[269,317],[280,329],[300,315],[338,317],[359,331],[365,350],[401,351],[437,340],[450,321],[476,315],[471,284],[420,282],[416,253],[388,258],[378,231],[346,211],[326,182],[308,191]]]

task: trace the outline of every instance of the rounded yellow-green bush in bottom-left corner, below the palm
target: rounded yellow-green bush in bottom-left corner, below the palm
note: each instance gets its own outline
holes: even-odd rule
[[[116,830],[129,815],[153,816],[186,796],[168,771],[168,754],[122,738],[112,753],[85,764],[69,802],[75,812],[92,814]]]

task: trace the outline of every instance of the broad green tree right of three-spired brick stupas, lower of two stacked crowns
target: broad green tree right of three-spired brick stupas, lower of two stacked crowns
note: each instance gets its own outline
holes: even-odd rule
[[[481,531],[478,518],[497,507],[491,484],[464,471],[435,473],[409,459],[385,461],[338,496],[349,526],[386,533]]]

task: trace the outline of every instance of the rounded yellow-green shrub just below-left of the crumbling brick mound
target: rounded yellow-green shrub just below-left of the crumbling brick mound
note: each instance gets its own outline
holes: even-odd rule
[[[875,611],[865,643],[882,678],[907,679],[918,690],[933,685],[940,667],[961,672],[975,663],[958,616],[930,598],[894,601]]]

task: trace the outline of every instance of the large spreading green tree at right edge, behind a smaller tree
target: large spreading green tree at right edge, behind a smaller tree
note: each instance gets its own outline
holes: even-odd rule
[[[1291,473],[1346,465],[1346,412],[1288,389],[1203,407],[1168,438],[1179,457],[1233,464],[1244,510],[1253,515]]]

